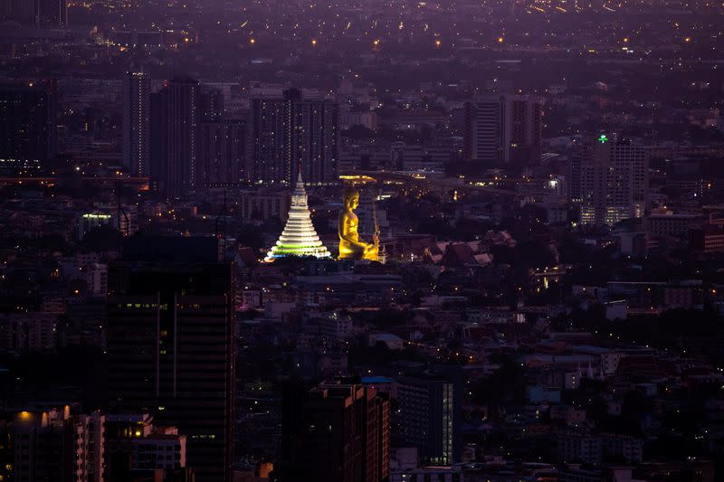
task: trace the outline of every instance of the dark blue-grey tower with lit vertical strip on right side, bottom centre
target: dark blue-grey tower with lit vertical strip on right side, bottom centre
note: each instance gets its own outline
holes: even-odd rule
[[[395,439],[417,447],[421,463],[450,465],[460,460],[458,373],[429,373],[400,380]]]

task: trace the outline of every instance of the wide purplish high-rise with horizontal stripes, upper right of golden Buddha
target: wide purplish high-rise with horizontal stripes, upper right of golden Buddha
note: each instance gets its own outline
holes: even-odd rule
[[[481,167],[540,162],[542,101],[533,96],[488,96],[465,104],[463,156]]]

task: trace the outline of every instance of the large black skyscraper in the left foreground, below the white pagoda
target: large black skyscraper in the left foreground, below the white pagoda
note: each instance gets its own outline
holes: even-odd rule
[[[110,266],[110,408],[186,435],[198,482],[230,480],[233,276],[215,238],[128,238]]]

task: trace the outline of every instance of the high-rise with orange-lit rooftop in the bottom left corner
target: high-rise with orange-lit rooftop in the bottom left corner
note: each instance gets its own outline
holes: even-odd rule
[[[19,412],[9,429],[14,461],[10,480],[103,482],[105,417],[51,411]]]

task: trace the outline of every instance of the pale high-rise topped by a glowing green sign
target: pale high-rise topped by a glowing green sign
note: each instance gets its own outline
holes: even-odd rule
[[[643,146],[606,135],[581,155],[581,222],[613,225],[643,217],[648,206],[649,155]]]

